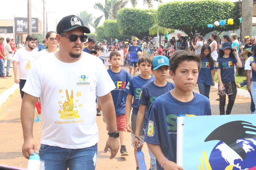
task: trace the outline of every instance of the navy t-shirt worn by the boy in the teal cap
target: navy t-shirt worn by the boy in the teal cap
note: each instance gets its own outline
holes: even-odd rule
[[[143,122],[144,129],[147,128],[147,122],[148,122],[148,110],[150,105],[155,101],[155,99],[163,94],[165,94],[167,91],[170,91],[174,89],[174,84],[167,81],[167,84],[163,87],[159,87],[154,84],[154,81],[144,85],[141,89],[139,104],[146,106],[145,110],[145,117]]]

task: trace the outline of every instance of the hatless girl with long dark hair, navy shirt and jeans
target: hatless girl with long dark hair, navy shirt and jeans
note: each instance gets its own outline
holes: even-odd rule
[[[199,92],[209,98],[211,85],[214,86],[214,63],[211,57],[211,47],[204,44],[199,55],[202,61],[202,67],[198,74],[197,84]]]

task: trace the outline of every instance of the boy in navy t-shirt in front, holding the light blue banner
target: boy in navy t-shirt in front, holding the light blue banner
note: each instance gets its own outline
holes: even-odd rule
[[[177,116],[211,115],[209,99],[193,92],[200,58],[178,50],[169,61],[170,77],[175,88],[158,97],[148,111],[145,142],[157,159],[157,169],[183,169],[176,164]]]

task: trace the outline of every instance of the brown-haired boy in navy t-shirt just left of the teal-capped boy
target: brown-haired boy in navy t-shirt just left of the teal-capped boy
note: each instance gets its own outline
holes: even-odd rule
[[[124,92],[128,94],[127,100],[125,103],[126,130],[127,132],[132,132],[131,133],[132,143],[133,143],[133,139],[135,138],[137,113],[140,108],[140,104],[138,102],[139,102],[139,97],[141,93],[141,88],[143,85],[155,80],[155,77],[150,75],[152,59],[153,59],[153,56],[150,54],[143,54],[139,58],[138,68],[140,68],[141,74],[138,76],[132,77],[124,90]],[[130,122],[131,107],[133,108],[132,118],[131,118],[132,123]],[[140,139],[140,146],[142,148],[144,143],[143,128],[141,128],[140,135],[138,137]],[[134,148],[136,167],[138,168],[139,165],[136,158],[136,153],[137,153],[137,150]]]

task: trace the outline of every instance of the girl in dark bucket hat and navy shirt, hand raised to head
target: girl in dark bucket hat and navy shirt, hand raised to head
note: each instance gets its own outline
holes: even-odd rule
[[[218,76],[218,95],[220,96],[220,115],[225,114],[226,94],[228,95],[228,106],[226,114],[230,114],[234,105],[237,87],[234,76],[234,65],[242,67],[242,62],[238,56],[238,51],[235,48],[231,48],[230,42],[225,42],[222,47],[219,48],[219,57],[215,63]],[[233,53],[234,52],[234,53]],[[236,55],[236,56],[234,56]]]

